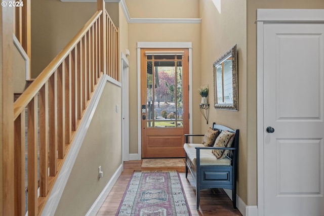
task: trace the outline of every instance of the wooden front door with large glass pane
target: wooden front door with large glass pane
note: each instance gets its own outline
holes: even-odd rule
[[[185,156],[188,80],[188,49],[141,50],[142,158]]]

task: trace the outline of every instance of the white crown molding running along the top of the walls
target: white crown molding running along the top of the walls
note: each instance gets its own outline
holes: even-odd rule
[[[97,0],[60,0],[61,2],[97,2]],[[119,3],[128,23],[170,23],[170,24],[199,24],[200,18],[131,18],[125,0],[104,0],[107,3]]]

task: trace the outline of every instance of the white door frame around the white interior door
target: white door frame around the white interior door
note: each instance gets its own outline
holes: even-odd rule
[[[264,215],[263,27],[267,23],[324,23],[322,9],[257,9],[257,181],[258,215]]]

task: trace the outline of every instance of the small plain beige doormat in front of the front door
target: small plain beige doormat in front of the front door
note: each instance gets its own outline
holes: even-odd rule
[[[142,167],[185,167],[183,158],[143,159]]]

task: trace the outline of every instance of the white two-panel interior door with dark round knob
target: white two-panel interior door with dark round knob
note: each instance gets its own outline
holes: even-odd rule
[[[263,31],[264,215],[324,215],[324,24]]]

